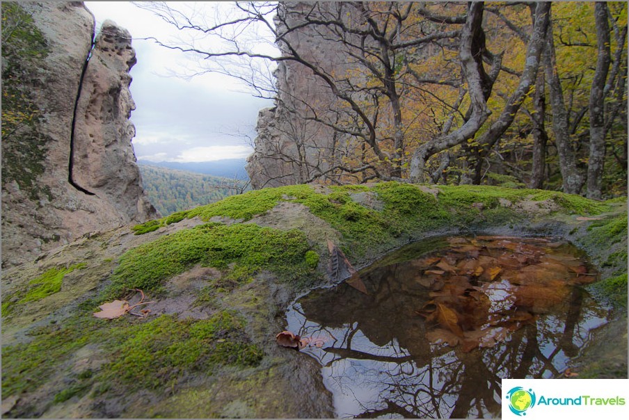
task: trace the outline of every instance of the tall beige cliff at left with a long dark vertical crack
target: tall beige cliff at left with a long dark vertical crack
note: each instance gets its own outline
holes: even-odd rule
[[[5,16],[26,24],[3,45],[3,97],[19,98],[3,101],[3,267],[157,216],[131,145],[129,33],[106,22],[92,49],[83,3],[6,4],[3,38]],[[9,126],[7,115],[21,117]]]

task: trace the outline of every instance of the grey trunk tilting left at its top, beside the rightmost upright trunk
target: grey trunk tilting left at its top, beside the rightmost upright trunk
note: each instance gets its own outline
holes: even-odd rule
[[[550,13],[549,13],[550,14]],[[562,82],[557,72],[555,58],[555,40],[552,38],[552,23],[546,33],[546,51],[544,67],[546,83],[550,92],[550,108],[552,109],[552,131],[555,134],[557,154],[559,155],[559,170],[562,172],[564,193],[578,194],[583,187],[583,176],[577,168],[575,152],[571,145],[568,132],[568,111],[564,102]]]

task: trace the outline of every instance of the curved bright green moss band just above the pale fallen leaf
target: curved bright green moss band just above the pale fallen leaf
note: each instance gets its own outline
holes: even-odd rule
[[[161,282],[195,264],[226,268],[237,263],[247,269],[269,269],[285,280],[298,280],[311,270],[304,255],[305,234],[257,225],[207,223],[163,236],[122,255],[105,298],[126,289],[158,291]]]

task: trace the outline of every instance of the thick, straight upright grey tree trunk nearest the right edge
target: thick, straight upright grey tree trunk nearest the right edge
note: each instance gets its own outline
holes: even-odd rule
[[[600,200],[605,164],[605,82],[610,71],[610,25],[607,22],[607,4],[597,1],[594,6],[598,58],[589,97],[590,151],[587,165],[587,197]]]

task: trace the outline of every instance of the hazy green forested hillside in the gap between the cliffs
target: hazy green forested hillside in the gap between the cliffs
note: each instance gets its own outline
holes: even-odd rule
[[[245,180],[213,177],[143,163],[138,166],[144,190],[161,216],[216,202],[241,192],[243,188],[245,191],[249,189],[248,186],[245,187],[248,185]]]

